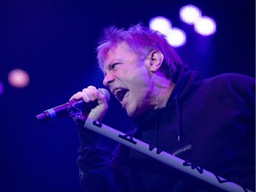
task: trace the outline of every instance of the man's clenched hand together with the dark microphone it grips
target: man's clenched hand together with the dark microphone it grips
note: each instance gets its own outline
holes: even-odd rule
[[[110,94],[106,89],[96,89],[94,86],[84,88],[82,92],[74,94],[69,102],[45,110],[36,116],[38,121],[51,121],[61,116],[71,116],[74,109],[78,109],[86,117],[100,121],[108,109]]]

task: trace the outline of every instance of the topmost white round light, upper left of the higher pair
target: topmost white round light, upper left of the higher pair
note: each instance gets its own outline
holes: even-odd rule
[[[192,4],[188,4],[180,8],[180,20],[188,24],[194,24],[202,15],[199,8]]]

